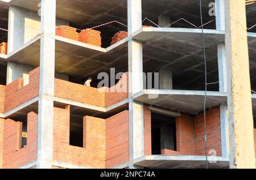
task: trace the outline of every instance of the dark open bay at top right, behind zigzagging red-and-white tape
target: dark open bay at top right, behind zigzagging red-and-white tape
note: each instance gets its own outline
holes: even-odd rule
[[[206,29],[216,29],[215,16],[210,16],[211,7],[209,4],[214,0],[204,0],[203,3],[203,23]],[[189,7],[189,8],[187,8]],[[142,18],[148,18],[152,22],[158,24],[158,16],[167,15],[171,17],[170,27],[172,28],[196,28],[200,27],[200,1],[199,0],[183,0],[183,1],[166,1],[166,0],[142,0]],[[181,18],[187,20],[180,20]],[[176,23],[175,23],[176,22]],[[209,23],[210,22],[210,23]],[[206,24],[208,23],[208,24]],[[151,25],[156,27],[149,20],[145,20],[143,25]]]

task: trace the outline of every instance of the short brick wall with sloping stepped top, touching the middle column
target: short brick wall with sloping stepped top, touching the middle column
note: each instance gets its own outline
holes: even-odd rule
[[[129,75],[125,72],[119,79],[119,82],[111,88],[106,89],[105,93],[105,106],[116,104],[128,98],[129,94]]]

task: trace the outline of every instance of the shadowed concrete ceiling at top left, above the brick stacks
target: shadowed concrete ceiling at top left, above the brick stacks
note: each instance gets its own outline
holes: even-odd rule
[[[18,6],[38,12],[40,0],[12,0],[9,3],[0,2],[1,5]],[[127,0],[57,0],[56,16],[86,26],[118,20],[127,23]],[[93,7],[93,8],[92,8]],[[6,7],[7,8],[7,7]]]

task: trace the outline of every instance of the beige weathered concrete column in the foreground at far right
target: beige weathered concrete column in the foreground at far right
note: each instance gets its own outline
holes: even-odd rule
[[[230,168],[255,168],[245,1],[226,0]]]

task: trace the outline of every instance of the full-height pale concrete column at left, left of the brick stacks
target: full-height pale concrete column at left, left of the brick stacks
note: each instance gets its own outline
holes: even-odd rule
[[[56,0],[42,0],[37,168],[52,168]]]

